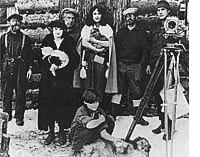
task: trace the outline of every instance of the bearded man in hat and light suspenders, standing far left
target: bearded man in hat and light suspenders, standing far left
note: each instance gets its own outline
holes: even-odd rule
[[[9,31],[0,39],[3,111],[12,119],[13,90],[16,92],[16,124],[24,125],[26,80],[32,74],[31,39],[20,31],[23,17],[12,14],[7,18]]]

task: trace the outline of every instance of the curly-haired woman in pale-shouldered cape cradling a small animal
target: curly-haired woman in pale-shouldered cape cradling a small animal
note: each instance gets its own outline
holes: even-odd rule
[[[117,93],[116,54],[113,30],[108,25],[103,7],[95,5],[89,11],[81,31],[83,89],[93,88],[104,98],[106,93]]]

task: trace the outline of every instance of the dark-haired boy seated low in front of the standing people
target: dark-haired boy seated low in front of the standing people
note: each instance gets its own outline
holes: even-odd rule
[[[114,118],[99,107],[100,98],[93,89],[87,89],[82,96],[84,104],[77,110],[71,124],[69,140],[75,152],[84,145],[102,138],[111,142],[121,141],[111,136],[114,129]]]

